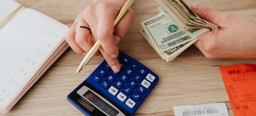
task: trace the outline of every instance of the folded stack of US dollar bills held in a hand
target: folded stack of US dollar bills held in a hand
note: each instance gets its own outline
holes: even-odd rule
[[[167,62],[211,30],[183,0],[157,0],[160,13],[141,22],[140,33]]]

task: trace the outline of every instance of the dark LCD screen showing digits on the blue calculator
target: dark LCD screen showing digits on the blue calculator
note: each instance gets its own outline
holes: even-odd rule
[[[116,116],[119,113],[115,108],[111,107],[90,90],[84,93],[83,96],[110,116]]]

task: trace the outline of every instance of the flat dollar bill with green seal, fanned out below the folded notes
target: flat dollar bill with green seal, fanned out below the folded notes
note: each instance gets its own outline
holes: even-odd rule
[[[159,13],[157,16],[141,22],[157,52],[163,52],[192,41],[199,34],[209,30],[183,30],[167,15]]]

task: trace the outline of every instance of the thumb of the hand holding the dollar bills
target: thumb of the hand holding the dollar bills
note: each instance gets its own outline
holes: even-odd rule
[[[202,6],[195,2],[192,3],[191,8],[195,12],[195,14],[197,14],[199,17],[217,26],[221,25],[222,21],[220,20],[222,20],[223,16],[225,16],[224,12],[220,12],[220,11]]]

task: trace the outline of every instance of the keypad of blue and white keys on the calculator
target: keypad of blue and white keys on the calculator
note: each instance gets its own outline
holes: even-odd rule
[[[109,94],[106,96],[112,96],[120,100],[122,104],[134,108],[136,104],[140,105],[141,100],[145,99],[145,92],[151,87],[151,83],[156,84],[154,82],[156,75],[144,65],[126,55],[121,54],[118,59],[121,65],[120,72],[113,72],[105,62],[96,69],[97,74],[91,80],[100,85],[101,88],[98,89],[101,92],[108,91]]]

